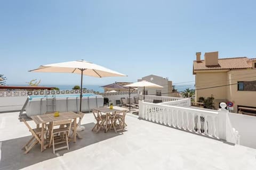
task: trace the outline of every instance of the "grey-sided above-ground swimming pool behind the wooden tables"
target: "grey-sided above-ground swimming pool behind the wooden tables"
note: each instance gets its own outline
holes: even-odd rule
[[[55,106],[51,100],[52,95],[47,95],[46,101],[45,95],[29,96],[28,104],[26,106],[26,114],[28,116],[45,114],[45,112],[59,111],[78,112],[80,108],[80,95],[56,95]],[[47,106],[46,106],[47,104]],[[103,106],[103,97],[94,94],[83,94],[82,98],[82,112],[90,112],[94,107]],[[54,108],[55,107],[55,108]]]

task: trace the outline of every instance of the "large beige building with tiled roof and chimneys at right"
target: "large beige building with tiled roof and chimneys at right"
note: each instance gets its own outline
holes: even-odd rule
[[[256,58],[218,57],[218,52],[205,53],[201,60],[201,53],[196,53],[193,63],[196,101],[213,95],[216,108],[221,102],[229,102],[230,112],[256,113]]]

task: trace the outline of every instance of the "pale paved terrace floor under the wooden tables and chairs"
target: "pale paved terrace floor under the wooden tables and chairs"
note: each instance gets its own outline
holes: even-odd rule
[[[70,142],[70,150],[40,152],[34,147],[27,155],[21,147],[29,139],[18,112],[0,114],[0,169],[255,169],[256,149],[126,116],[124,133],[91,131],[95,124],[85,114],[83,139]],[[32,121],[29,124],[35,127]]]

